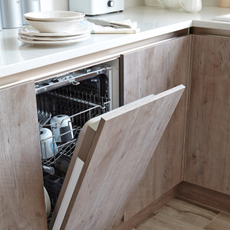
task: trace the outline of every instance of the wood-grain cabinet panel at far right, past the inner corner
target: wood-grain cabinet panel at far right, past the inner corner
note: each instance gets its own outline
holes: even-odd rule
[[[230,195],[230,39],[194,35],[185,181]]]

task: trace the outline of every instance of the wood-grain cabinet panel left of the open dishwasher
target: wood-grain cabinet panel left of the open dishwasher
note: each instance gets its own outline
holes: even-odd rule
[[[0,91],[0,229],[47,229],[34,83]]]

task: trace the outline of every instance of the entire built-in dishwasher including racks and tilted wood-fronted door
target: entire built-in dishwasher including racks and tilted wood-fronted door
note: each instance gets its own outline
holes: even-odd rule
[[[185,89],[179,85],[119,107],[118,67],[114,60],[35,84],[44,178],[44,196],[42,187],[37,196],[49,230],[123,225]]]

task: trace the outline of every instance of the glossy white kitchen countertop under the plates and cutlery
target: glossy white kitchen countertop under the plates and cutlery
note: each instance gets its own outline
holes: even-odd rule
[[[191,26],[230,30],[230,23],[213,21],[216,16],[228,13],[230,9],[216,6],[203,6],[199,13],[161,7],[127,8],[100,18],[131,19],[138,23],[138,34],[92,34],[88,40],[63,46],[25,44],[17,40],[17,29],[4,29],[0,31],[0,78]]]

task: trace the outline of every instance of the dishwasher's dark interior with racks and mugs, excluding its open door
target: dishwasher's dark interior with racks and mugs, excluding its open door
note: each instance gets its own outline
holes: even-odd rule
[[[116,59],[35,83],[48,225],[82,127],[119,107],[118,65]]]

